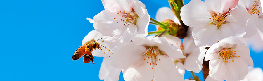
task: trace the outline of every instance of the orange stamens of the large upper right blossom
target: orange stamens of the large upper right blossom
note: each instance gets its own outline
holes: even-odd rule
[[[214,24],[214,25],[220,27],[220,25],[226,23],[225,21],[226,21],[226,17],[228,15],[230,15],[230,12],[225,13],[225,14],[221,14],[221,13],[217,12],[217,13],[213,13],[212,18],[209,18],[209,19],[212,20],[211,24]]]

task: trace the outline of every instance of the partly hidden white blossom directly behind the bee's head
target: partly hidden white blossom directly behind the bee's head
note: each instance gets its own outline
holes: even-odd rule
[[[95,40],[102,38],[102,34],[100,32],[92,30],[88,33],[88,35],[84,37],[84,39],[82,40],[82,45],[93,39],[95,35]],[[105,47],[101,47],[102,51],[99,49],[92,51],[93,56],[104,57],[101,63],[99,78],[105,81],[118,81],[121,69],[117,69],[111,66],[112,60],[109,56],[112,54],[113,51],[107,48],[108,45],[105,42],[103,42],[103,39],[98,40],[98,43]]]

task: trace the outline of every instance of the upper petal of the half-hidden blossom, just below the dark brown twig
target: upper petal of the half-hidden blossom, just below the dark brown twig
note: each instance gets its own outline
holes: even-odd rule
[[[189,27],[187,30],[187,36],[183,39],[183,46],[184,46],[184,52],[186,54],[189,54],[190,51],[192,51],[195,48],[198,48],[198,46],[195,45],[195,41],[192,36],[193,27]]]

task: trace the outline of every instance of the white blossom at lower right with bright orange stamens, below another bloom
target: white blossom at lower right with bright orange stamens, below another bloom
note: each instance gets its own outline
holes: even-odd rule
[[[209,76],[215,80],[243,80],[248,73],[248,65],[253,66],[248,46],[235,37],[222,39],[213,44],[205,54],[209,61]]]

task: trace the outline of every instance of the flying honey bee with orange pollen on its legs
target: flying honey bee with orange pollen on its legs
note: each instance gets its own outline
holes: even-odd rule
[[[93,49],[101,49],[98,40],[102,39],[98,39],[97,41],[95,40],[96,38],[101,37],[100,34],[95,35],[95,37],[93,39],[91,39],[90,41],[86,42],[83,46],[79,46],[79,48],[74,52],[72,59],[73,60],[78,60],[79,58],[81,58],[83,56],[83,62],[84,63],[89,63],[90,61],[92,61],[92,64],[94,63],[94,57],[92,55],[92,51]],[[104,46],[103,46],[104,47]]]

